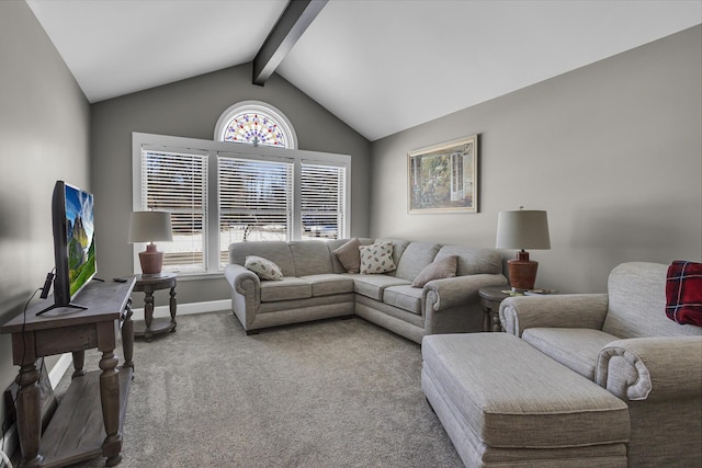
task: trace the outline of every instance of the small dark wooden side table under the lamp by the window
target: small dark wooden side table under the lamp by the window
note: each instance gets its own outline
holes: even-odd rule
[[[154,292],[170,288],[170,320],[168,318],[154,318]],[[135,292],[144,293],[144,324],[134,323],[134,335],[144,336],[151,341],[155,334],[174,332],[176,322],[176,273],[160,273],[156,276],[136,275]]]

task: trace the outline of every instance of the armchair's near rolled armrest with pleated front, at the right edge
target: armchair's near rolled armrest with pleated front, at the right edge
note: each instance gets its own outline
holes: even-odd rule
[[[613,341],[600,351],[595,379],[623,400],[700,398],[702,336]]]

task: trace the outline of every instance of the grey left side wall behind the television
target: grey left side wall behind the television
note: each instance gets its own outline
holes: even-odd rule
[[[2,323],[22,311],[54,266],[54,183],[64,179],[91,189],[89,123],[88,101],[30,8],[23,1],[0,1]],[[0,335],[0,391],[18,373],[10,342]],[[47,359],[47,366],[55,362]]]

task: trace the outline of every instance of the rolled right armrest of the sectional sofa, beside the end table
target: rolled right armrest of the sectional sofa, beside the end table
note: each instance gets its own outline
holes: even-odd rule
[[[475,274],[433,279],[424,285],[422,303],[433,311],[462,306],[477,297],[478,289],[487,286],[507,285],[501,274]]]

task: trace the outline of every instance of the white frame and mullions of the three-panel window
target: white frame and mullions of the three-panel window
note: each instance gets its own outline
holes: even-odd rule
[[[219,183],[217,174],[217,156],[237,157],[254,160],[292,161],[293,163],[293,224],[291,240],[301,240],[303,227],[301,217],[301,171],[303,163],[336,165],[346,169],[346,187],[343,194],[343,226],[338,238],[348,238],[351,226],[351,156],[332,152],[285,149],[269,146],[253,146],[231,141],[215,141],[199,138],[174,137],[168,135],[132,133],[132,209],[141,210],[141,158],[143,149],[186,152],[204,151],[207,153],[207,203],[205,219],[207,224],[206,239],[203,239],[205,271],[202,273],[179,273],[181,277],[211,277],[220,275],[219,267]],[[133,244],[133,271],[139,273],[138,252],[145,243]],[[214,247],[214,249],[212,248]]]

